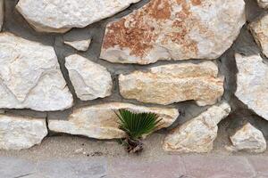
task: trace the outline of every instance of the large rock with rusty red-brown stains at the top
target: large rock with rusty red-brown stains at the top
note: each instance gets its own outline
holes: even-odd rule
[[[101,58],[139,64],[216,59],[239,35],[244,11],[243,0],[151,0],[108,24]]]

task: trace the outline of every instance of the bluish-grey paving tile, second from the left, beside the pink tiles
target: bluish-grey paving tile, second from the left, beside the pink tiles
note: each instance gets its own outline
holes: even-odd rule
[[[43,178],[99,178],[106,175],[107,162],[102,158],[50,159],[38,164]]]

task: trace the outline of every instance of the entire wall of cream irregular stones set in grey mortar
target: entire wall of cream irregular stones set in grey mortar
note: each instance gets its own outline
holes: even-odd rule
[[[98,3],[96,3],[98,2]],[[163,118],[163,150],[264,152],[268,2],[0,0],[0,149],[117,139],[114,110]]]

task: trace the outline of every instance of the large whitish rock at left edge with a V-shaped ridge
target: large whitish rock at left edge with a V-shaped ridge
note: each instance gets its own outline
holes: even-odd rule
[[[67,109],[72,95],[51,46],[0,34],[0,108]]]

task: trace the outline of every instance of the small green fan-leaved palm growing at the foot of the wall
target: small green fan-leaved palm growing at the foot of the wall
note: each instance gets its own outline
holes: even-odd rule
[[[122,143],[130,153],[143,150],[142,136],[155,131],[162,120],[155,113],[134,113],[127,109],[119,109],[116,115],[119,128],[128,135]]]

